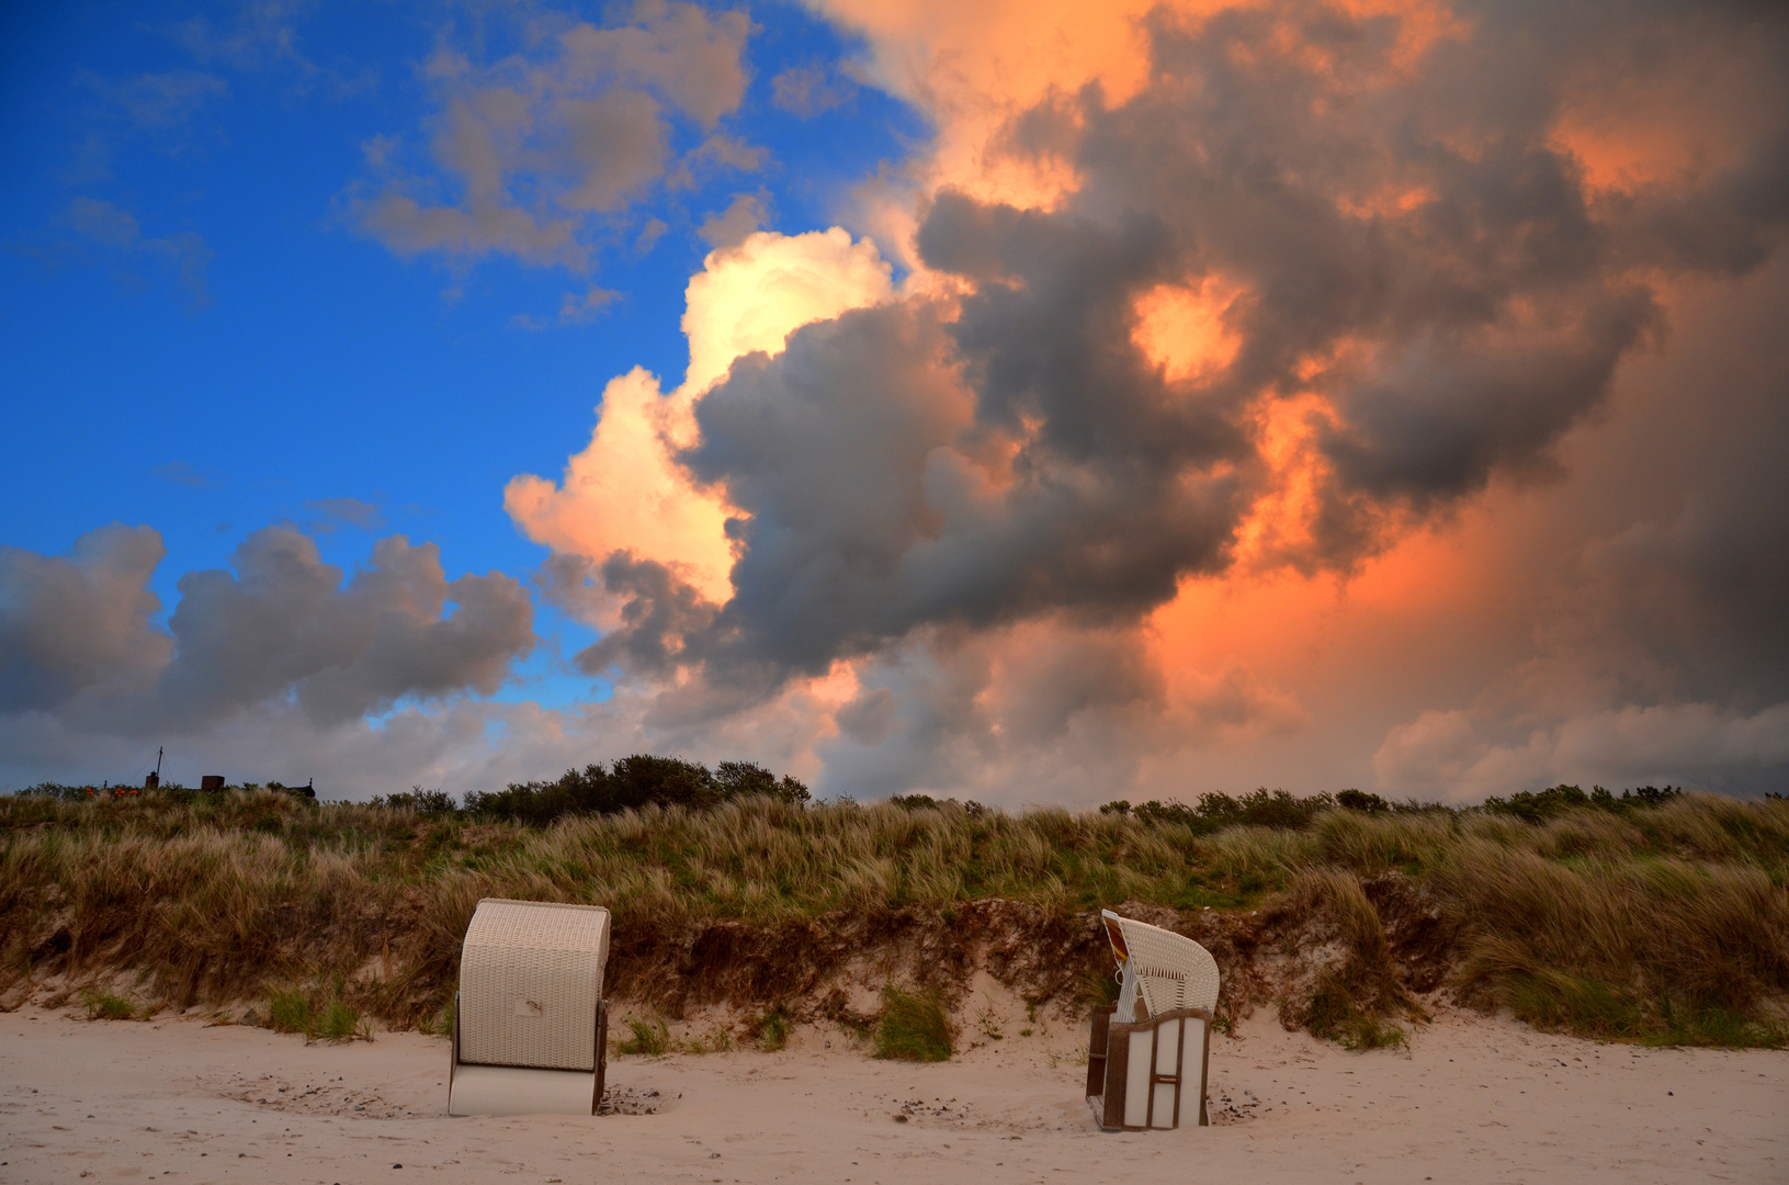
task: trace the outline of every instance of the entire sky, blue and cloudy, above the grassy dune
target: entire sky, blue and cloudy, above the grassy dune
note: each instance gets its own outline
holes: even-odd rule
[[[1773,4],[0,16],[0,788],[1789,789]]]

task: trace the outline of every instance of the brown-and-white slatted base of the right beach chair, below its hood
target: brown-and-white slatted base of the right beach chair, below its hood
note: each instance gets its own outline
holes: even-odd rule
[[[1102,1131],[1179,1128],[1206,1115],[1206,1070],[1211,1063],[1211,1011],[1175,1008],[1123,1024],[1115,1008],[1093,1010],[1088,1038],[1088,1106]]]

